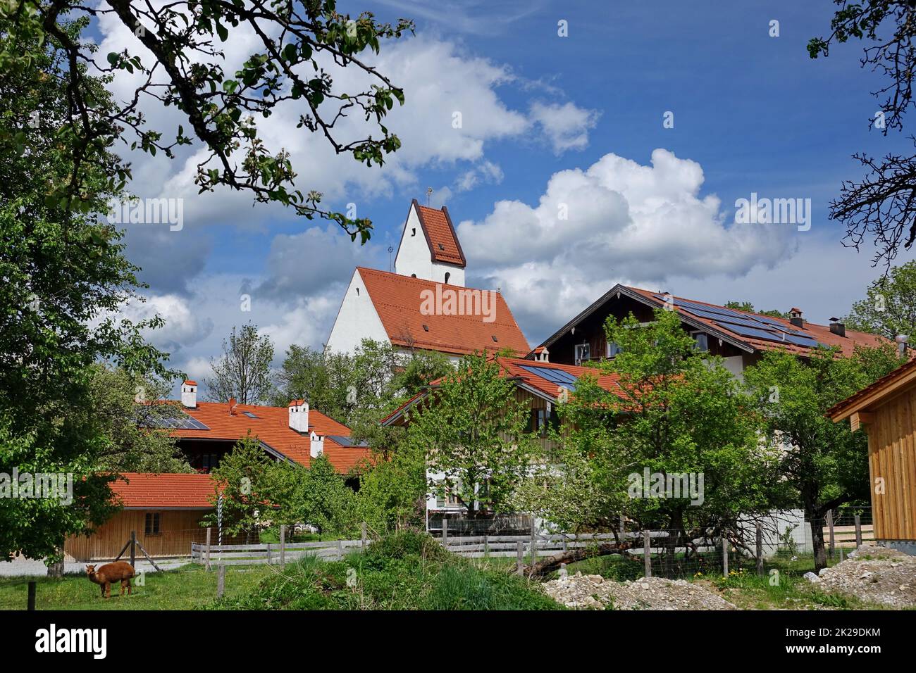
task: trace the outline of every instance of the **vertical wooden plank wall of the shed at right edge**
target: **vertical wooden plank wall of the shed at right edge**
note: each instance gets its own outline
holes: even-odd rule
[[[916,389],[873,409],[868,428],[875,538],[916,540]],[[876,479],[884,479],[884,494]]]

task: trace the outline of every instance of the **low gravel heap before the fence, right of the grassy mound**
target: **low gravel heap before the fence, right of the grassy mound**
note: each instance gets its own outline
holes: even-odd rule
[[[616,582],[601,575],[575,575],[548,581],[544,590],[556,602],[578,610],[736,610],[698,584],[658,577]]]

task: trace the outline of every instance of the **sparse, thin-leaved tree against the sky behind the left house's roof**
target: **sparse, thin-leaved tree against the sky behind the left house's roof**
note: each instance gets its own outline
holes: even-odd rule
[[[228,342],[223,342],[223,354],[210,361],[213,378],[205,382],[207,395],[216,402],[228,402],[231,397],[244,405],[265,402],[273,385],[273,359],[274,344],[257,333],[256,325],[243,325],[238,333],[233,327]]]

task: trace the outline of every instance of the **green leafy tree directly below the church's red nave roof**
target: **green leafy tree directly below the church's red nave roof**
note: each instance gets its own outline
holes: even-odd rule
[[[409,412],[406,441],[427,457],[428,488],[451,495],[469,518],[505,511],[536,456],[529,406],[501,373],[485,353],[465,355]]]

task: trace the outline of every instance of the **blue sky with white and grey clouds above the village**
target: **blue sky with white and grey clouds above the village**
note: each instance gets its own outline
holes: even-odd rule
[[[162,314],[168,325],[152,339],[193,376],[205,377],[229,329],[249,320],[277,342],[278,360],[290,343],[320,347],[354,266],[387,269],[409,201],[425,201],[428,187],[458,225],[468,284],[502,288],[532,345],[618,281],[799,306],[825,321],[879,274],[868,251],[843,248],[827,204],[843,179],[861,176],[850,155],[907,141],[869,131],[878,80],[859,68],[860,43],[808,58],[808,39],[833,16],[828,0],[339,8],[416,20],[416,36],[384,45],[378,60],[407,91],[389,124],[404,147],[365,171],[283,119],[268,131],[292,148],[303,190],[373,220],[370,244],[238,195],[194,196],[194,148],[174,162],[131,157],[135,193],[184,196],[186,213],[181,232],[128,230],[127,255],[150,288],[145,306],[125,312]],[[561,20],[568,37],[558,36]],[[132,37],[104,24],[101,35],[103,52]],[[227,56],[244,59],[244,43]],[[457,133],[453,111],[463,114]],[[673,128],[662,125],[666,112]],[[172,128],[170,114],[150,117]],[[811,199],[811,230],[736,227],[735,202],[752,192]],[[551,222],[558,200],[569,201],[571,222]],[[239,309],[242,293],[250,312]]]

